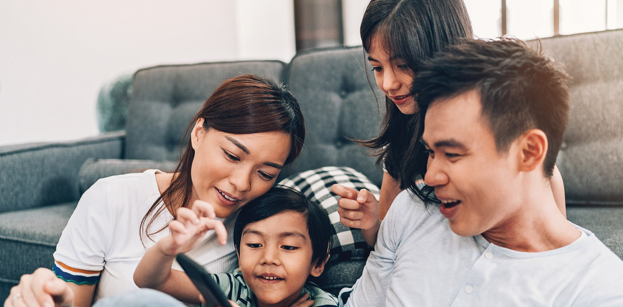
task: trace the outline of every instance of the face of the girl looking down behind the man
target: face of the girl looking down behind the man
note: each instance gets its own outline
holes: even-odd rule
[[[378,34],[373,35],[369,51],[368,61],[373,67],[376,85],[394,101],[402,113],[414,114],[417,106],[411,95],[413,72],[407,63],[400,58],[391,58]]]

